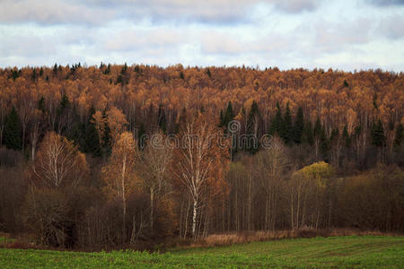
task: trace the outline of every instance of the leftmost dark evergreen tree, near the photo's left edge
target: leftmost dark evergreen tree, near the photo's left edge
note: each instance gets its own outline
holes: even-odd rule
[[[5,119],[4,143],[7,149],[22,150],[21,122],[14,107]]]

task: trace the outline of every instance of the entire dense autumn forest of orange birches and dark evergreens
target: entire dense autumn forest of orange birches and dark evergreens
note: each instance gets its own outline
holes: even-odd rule
[[[56,247],[403,232],[403,124],[404,76],[381,70],[0,69],[0,230]]]

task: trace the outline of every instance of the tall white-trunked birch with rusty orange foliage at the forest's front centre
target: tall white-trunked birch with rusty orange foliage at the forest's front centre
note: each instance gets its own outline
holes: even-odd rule
[[[230,144],[221,135],[222,131],[211,125],[205,115],[199,115],[185,124],[180,146],[174,150],[173,175],[192,202],[193,238],[198,237],[199,213],[208,204],[208,198],[223,192],[225,187]]]

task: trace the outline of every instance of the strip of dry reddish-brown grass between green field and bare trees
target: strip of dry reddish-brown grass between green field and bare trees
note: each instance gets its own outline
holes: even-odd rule
[[[228,246],[233,244],[244,244],[257,241],[268,241],[278,239],[300,239],[315,237],[341,237],[341,236],[402,236],[395,233],[384,233],[381,231],[362,231],[362,230],[274,230],[274,231],[243,231],[229,232],[221,234],[211,234],[205,239],[199,239],[194,242],[191,247],[217,247]]]

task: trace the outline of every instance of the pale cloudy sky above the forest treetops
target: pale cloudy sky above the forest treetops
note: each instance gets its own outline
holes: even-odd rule
[[[0,0],[0,67],[404,70],[404,0]]]

